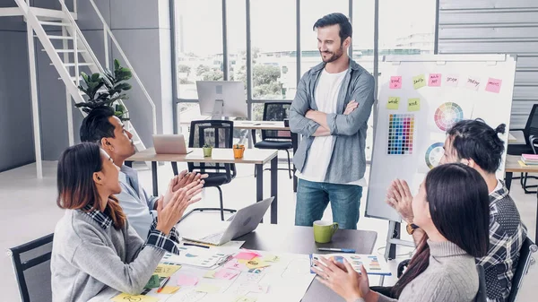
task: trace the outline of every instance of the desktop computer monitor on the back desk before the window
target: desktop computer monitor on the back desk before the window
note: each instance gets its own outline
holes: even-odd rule
[[[221,119],[222,116],[247,117],[245,84],[235,81],[197,81],[200,114]]]

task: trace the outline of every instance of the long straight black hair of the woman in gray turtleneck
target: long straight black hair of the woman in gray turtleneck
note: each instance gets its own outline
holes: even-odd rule
[[[440,165],[428,173],[425,185],[431,220],[439,233],[469,255],[486,255],[490,246],[490,198],[480,173],[459,163]],[[393,287],[395,298],[430,265],[427,240],[426,235],[421,238],[407,270]]]

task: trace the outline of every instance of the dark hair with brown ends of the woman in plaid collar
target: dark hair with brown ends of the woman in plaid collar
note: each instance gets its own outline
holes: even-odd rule
[[[103,168],[100,147],[93,142],[82,142],[67,148],[58,161],[56,204],[62,209],[78,210],[91,205],[92,210],[98,209],[100,195],[93,182],[93,173]],[[126,223],[126,215],[117,199],[110,196],[107,207],[103,211],[108,214],[116,229],[121,229]]]

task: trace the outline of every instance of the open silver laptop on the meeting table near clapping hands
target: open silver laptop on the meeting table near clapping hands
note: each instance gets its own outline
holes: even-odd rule
[[[226,229],[220,229],[217,232],[204,234],[202,236],[186,235],[183,238],[190,241],[221,246],[230,240],[255,230],[260,221],[264,218],[265,211],[267,211],[271,203],[273,203],[273,200],[274,197],[267,198],[259,203],[251,204],[237,211]]]

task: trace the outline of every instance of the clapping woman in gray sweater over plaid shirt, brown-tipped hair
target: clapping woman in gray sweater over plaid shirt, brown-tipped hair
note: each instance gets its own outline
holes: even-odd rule
[[[92,142],[62,153],[57,168],[57,204],[66,209],[54,234],[50,269],[53,301],[105,301],[118,292],[139,294],[165,252],[178,254],[174,225],[200,181],[179,189],[168,204],[159,203],[144,240],[129,227],[113,196],[121,190],[117,166]]]

